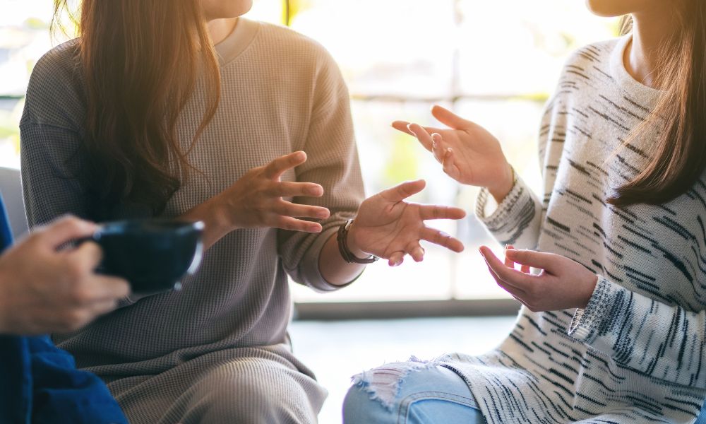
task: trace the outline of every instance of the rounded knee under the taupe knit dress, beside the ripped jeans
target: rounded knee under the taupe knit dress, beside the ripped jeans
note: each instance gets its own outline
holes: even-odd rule
[[[316,423],[325,396],[292,365],[240,358],[210,370],[165,418],[181,416],[181,424]]]

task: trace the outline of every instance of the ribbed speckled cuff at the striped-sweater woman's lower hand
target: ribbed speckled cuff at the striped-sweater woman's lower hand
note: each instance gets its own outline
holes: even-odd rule
[[[611,318],[616,295],[621,287],[615,285],[603,276],[598,276],[598,283],[593,290],[585,309],[577,309],[568,329],[568,335],[578,341],[592,345],[602,334]],[[599,348],[599,350],[602,350]]]

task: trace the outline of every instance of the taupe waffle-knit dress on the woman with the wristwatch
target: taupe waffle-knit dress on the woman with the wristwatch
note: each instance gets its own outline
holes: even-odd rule
[[[349,96],[323,47],[291,30],[241,19],[217,47],[222,100],[193,151],[203,174],[169,201],[178,216],[222,192],[253,167],[292,151],[309,160],[282,179],[316,182],[331,217],[321,235],[237,230],[206,252],[179,292],[124,302],[80,331],[54,336],[79,367],[107,383],[131,423],[313,423],[326,396],[289,346],[287,274],[334,290],[318,271],[323,242],[363,199]],[[95,217],[73,175],[84,136],[85,98],[76,42],[57,47],[32,73],[21,123],[30,225],[64,213]],[[189,146],[205,110],[203,91],[179,124]],[[145,216],[121,205],[111,218]]]

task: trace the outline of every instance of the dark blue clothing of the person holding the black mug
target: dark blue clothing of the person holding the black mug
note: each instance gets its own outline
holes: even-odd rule
[[[0,196],[0,252],[12,236]],[[0,335],[0,423],[127,424],[105,384],[49,336]]]

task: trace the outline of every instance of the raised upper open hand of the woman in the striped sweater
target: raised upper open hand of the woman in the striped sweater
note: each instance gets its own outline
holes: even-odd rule
[[[393,127],[417,137],[426,150],[443,165],[443,170],[457,182],[479,187],[494,187],[512,179],[512,170],[500,142],[482,126],[459,117],[441,106],[431,110],[448,129],[393,122]]]

